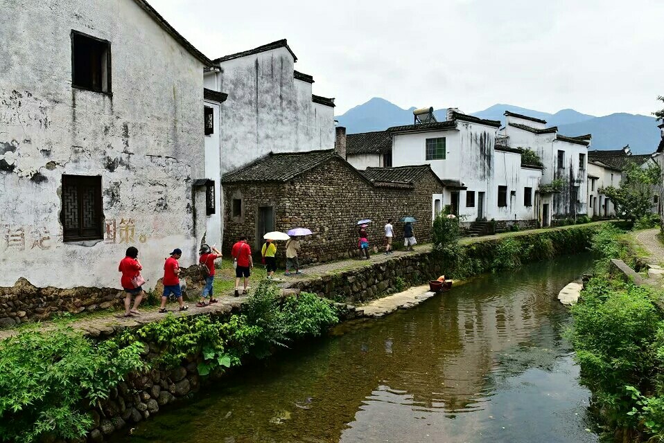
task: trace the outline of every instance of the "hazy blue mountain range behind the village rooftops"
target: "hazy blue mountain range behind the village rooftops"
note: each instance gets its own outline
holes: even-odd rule
[[[336,116],[340,126],[346,127],[348,134],[358,132],[381,131],[391,126],[412,123],[412,111],[415,107],[401,109],[384,98],[374,97],[362,105],[349,109]],[[546,120],[547,126],[557,126],[559,134],[580,136],[593,134],[591,149],[615,150],[625,145],[631,147],[634,154],[654,152],[661,140],[657,120],[650,116],[619,112],[608,116],[591,116],[574,109],[561,109],[555,114],[535,111],[514,105],[493,105],[483,111],[466,112],[471,116],[500,120],[505,125],[505,111],[515,112]],[[434,115],[438,121],[446,119],[446,108],[437,109]]]

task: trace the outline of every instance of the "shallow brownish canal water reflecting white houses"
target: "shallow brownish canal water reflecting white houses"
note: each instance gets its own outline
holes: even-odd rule
[[[589,255],[482,275],[238,371],[132,442],[596,442],[556,299]]]

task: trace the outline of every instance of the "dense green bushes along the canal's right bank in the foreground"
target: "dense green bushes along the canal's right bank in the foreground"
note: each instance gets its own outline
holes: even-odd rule
[[[595,277],[572,308],[566,333],[593,392],[606,435],[623,441],[664,439],[664,316],[654,287],[611,279],[608,262],[634,266],[635,246],[623,230],[605,224],[593,236]]]

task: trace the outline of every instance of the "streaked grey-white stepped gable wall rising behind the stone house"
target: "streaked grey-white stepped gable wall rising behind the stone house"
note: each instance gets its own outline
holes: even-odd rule
[[[311,84],[293,77],[294,60],[276,48],[220,63],[221,174],[268,152],[334,147],[334,109],[311,101]]]

